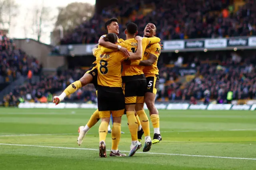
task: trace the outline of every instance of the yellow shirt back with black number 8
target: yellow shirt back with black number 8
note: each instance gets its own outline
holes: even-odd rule
[[[104,87],[122,87],[121,61],[127,57],[120,51],[102,53],[100,49],[94,52],[98,66],[98,85]]]

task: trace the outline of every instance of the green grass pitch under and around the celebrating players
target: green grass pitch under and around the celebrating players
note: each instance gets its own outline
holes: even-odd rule
[[[118,158],[99,157],[99,122],[86,134],[82,146],[76,144],[78,127],[93,112],[0,108],[0,169],[256,170],[255,111],[160,110],[163,140],[150,153],[140,149],[133,157]],[[131,142],[126,116],[122,131],[119,150],[125,152]],[[150,131],[153,137],[151,123]],[[110,134],[106,146],[111,149]]]

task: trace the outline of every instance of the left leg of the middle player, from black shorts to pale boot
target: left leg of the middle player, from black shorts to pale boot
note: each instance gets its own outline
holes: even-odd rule
[[[132,144],[130,146],[130,154],[128,156],[133,156],[135,152],[140,149],[141,144],[138,141],[138,122],[135,117],[135,104],[136,104],[136,81],[130,81],[123,84],[124,85],[124,95],[125,95],[125,109],[126,117],[128,120],[128,128],[132,136]]]

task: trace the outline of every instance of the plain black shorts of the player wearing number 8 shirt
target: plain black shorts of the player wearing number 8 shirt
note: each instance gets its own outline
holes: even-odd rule
[[[119,111],[125,108],[122,87],[104,87],[98,85],[98,110]]]

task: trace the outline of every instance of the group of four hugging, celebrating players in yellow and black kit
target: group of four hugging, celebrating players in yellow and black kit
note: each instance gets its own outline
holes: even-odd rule
[[[121,137],[121,117],[126,114],[132,144],[128,156],[133,156],[141,148],[142,135],[145,135],[143,152],[150,150],[152,144],[160,142],[158,110],[154,106],[156,87],[159,84],[157,61],[161,51],[160,38],[155,37],[156,26],[153,22],[146,25],[144,37],[137,36],[138,26],[126,26],[126,40],[118,39],[118,19],[112,18],[105,23],[107,35],[100,37],[93,49],[96,61],[84,76],[69,85],[53,103],[58,105],[67,95],[79,88],[93,83],[98,98],[98,109],[93,113],[86,126],[78,128],[77,143],[80,146],[86,132],[100,119],[100,157],[106,157],[106,136],[110,117],[112,117],[112,150],[110,156],[126,156],[118,150]],[[148,117],[144,111],[146,103],[154,138],[150,138]]]

